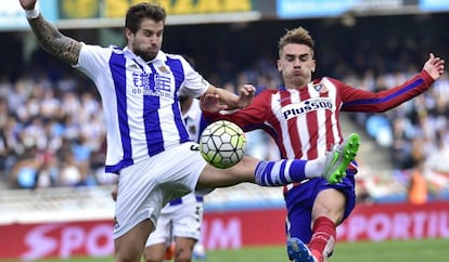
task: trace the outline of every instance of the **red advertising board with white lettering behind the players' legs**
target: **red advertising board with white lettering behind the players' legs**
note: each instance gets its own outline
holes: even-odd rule
[[[283,207],[208,211],[203,244],[207,250],[282,246],[285,214]],[[447,202],[359,205],[337,227],[337,236],[341,241],[449,238]],[[66,222],[0,224],[0,260],[112,256],[112,226],[113,220],[69,218]]]

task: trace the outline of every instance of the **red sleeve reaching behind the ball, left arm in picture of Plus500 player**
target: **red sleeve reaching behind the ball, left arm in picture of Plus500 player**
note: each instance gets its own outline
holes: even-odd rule
[[[244,109],[214,114],[204,113],[204,117],[208,123],[217,120],[228,120],[236,123],[243,131],[248,132],[264,126],[267,108],[270,108],[270,100],[271,93],[261,92],[256,95],[251,105]]]

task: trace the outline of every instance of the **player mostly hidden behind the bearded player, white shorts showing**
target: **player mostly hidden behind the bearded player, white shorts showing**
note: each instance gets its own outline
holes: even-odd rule
[[[180,96],[179,102],[190,139],[198,142],[207,125],[200,109],[200,101],[190,96]],[[194,250],[198,250],[197,245],[202,246],[200,243],[202,222],[203,196],[192,192],[171,200],[161,211],[156,228],[146,240],[143,258],[146,262],[172,259],[175,262],[192,261]],[[205,257],[205,253],[203,252],[202,256]]]

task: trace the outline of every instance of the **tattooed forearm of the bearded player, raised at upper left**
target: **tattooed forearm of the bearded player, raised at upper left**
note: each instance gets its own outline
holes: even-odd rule
[[[47,22],[41,15],[35,19],[28,19],[28,23],[47,52],[70,65],[78,64],[82,43],[61,34],[55,26]]]

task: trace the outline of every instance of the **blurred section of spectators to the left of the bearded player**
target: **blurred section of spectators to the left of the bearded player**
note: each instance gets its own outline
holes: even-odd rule
[[[0,82],[0,171],[10,187],[110,183],[102,175],[104,122],[92,91],[75,79],[24,76]]]

